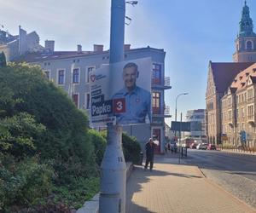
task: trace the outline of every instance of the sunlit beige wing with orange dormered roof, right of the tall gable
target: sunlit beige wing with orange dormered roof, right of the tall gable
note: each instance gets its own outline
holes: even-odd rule
[[[222,98],[222,143],[256,147],[256,63],[240,72]],[[241,140],[241,132],[246,141]]]

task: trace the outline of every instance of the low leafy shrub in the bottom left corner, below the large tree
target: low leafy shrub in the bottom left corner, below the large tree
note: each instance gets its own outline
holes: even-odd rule
[[[13,205],[31,206],[49,195],[54,176],[49,165],[39,164],[37,158],[15,162],[3,154],[0,164],[0,211]]]

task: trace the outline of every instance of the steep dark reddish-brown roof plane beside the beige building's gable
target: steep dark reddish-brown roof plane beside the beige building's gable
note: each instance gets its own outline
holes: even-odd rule
[[[229,88],[236,75],[251,65],[253,65],[253,62],[210,62],[217,92],[224,93],[224,91]]]

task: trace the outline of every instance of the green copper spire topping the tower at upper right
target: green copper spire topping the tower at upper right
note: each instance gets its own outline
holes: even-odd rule
[[[250,9],[247,6],[247,1],[244,1],[239,26],[239,37],[256,36],[253,32],[253,20],[250,17]]]

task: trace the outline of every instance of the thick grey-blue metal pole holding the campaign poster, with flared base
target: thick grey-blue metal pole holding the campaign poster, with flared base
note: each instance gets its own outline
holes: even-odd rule
[[[111,64],[124,60],[124,39],[125,1],[112,0],[109,50],[110,67]],[[100,213],[125,213],[126,165],[121,143],[122,127],[109,124],[108,144],[101,166]]]

